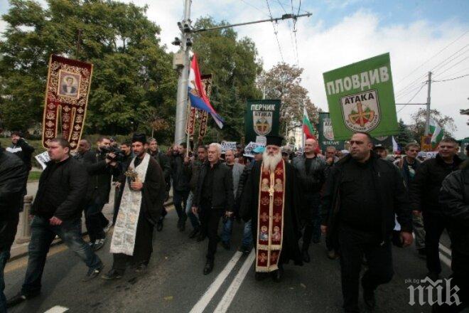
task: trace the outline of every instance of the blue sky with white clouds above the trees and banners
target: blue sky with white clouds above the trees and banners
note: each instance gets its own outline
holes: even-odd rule
[[[180,36],[177,22],[183,17],[183,0],[134,0],[148,6],[147,15],[161,26],[161,42],[168,51]],[[40,1],[44,3],[44,0]],[[298,12],[300,0],[269,0],[274,17]],[[0,0],[0,14],[9,8]],[[469,74],[469,1],[468,0],[302,0],[296,41],[291,21],[259,23],[235,28],[239,37],[256,43],[264,69],[284,62],[304,68],[301,85],[312,102],[328,111],[323,73],[374,55],[390,53],[396,103],[424,103],[426,80],[431,70],[434,80],[448,80]],[[212,16],[215,21],[240,23],[269,18],[265,0],[193,0],[191,19]],[[0,20],[0,31],[5,23]],[[297,58],[298,55],[298,58]],[[431,107],[455,120],[457,139],[469,137],[469,119],[460,109],[469,108],[469,75],[431,84]],[[417,105],[397,105],[397,117],[411,122]],[[222,113],[222,112],[220,112]]]

